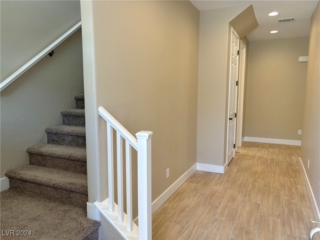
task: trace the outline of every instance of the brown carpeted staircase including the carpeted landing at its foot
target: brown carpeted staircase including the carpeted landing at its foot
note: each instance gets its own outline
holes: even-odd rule
[[[63,125],[45,129],[47,143],[26,149],[29,165],[5,173],[1,239],[98,239],[100,222],[86,217],[84,98],[74,98],[76,108],[61,111]]]

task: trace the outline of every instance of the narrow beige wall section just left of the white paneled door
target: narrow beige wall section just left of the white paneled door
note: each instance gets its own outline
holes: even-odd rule
[[[223,166],[229,24],[247,6],[200,12],[197,162]]]

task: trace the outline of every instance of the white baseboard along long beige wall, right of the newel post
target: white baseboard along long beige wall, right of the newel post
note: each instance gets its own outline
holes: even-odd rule
[[[171,186],[169,186],[158,198],[152,202],[152,213],[155,212],[196,170],[195,163],[183,173]]]

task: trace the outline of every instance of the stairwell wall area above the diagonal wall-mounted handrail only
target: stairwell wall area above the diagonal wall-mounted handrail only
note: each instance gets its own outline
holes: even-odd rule
[[[79,0],[0,1],[3,81],[79,22]]]

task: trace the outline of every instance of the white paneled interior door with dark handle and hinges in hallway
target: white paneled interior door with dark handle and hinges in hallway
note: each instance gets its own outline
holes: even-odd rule
[[[229,100],[227,117],[227,146],[226,163],[229,164],[235,154],[235,124],[236,124],[236,95],[238,80],[238,54],[239,36],[231,27],[231,47],[230,47],[230,71],[229,71]]]

